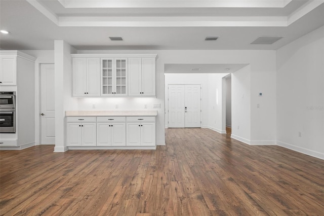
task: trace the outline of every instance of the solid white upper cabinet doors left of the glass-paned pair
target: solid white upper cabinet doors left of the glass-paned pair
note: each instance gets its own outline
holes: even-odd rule
[[[100,96],[100,58],[72,58],[73,96]]]

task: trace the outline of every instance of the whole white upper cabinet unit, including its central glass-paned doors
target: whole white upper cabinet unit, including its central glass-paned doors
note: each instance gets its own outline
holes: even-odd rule
[[[155,54],[72,54],[73,96],[155,96]]]

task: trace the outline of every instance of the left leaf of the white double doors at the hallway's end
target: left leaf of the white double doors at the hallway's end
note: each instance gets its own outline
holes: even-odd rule
[[[184,85],[169,85],[169,127],[184,127]]]

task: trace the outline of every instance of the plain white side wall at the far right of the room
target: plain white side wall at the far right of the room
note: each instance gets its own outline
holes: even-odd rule
[[[278,49],[276,60],[277,145],[324,159],[324,26]]]

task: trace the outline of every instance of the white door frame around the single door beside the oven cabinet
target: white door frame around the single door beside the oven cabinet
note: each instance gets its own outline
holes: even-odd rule
[[[35,61],[35,146],[41,145],[41,121],[39,113],[41,113],[41,65],[54,64],[54,59],[36,59]]]

